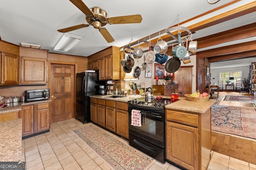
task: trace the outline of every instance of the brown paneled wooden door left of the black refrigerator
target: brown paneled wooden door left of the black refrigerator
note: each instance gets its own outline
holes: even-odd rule
[[[51,123],[75,117],[75,66],[51,64]]]

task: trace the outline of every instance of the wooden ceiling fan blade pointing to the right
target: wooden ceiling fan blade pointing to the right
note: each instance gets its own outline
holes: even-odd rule
[[[142,17],[140,14],[130,15],[130,16],[119,16],[108,18],[110,24],[119,24],[119,23],[140,23]]]

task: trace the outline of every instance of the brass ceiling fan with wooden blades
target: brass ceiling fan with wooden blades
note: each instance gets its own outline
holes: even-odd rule
[[[108,14],[100,7],[92,7],[88,8],[82,0],[70,0],[72,4],[74,4],[79,10],[81,10],[86,15],[86,23],[82,23],[79,25],[74,25],[71,27],[66,27],[62,29],[58,29],[57,31],[66,33],[68,31],[73,31],[76,29],[88,27],[89,25],[93,25],[95,29],[98,29],[101,35],[106,39],[108,43],[112,43],[114,38],[110,35],[108,30],[103,27],[107,23],[108,24],[120,24],[120,23],[140,23],[142,21],[142,17],[140,14],[130,15],[130,16],[118,16],[108,18]]]

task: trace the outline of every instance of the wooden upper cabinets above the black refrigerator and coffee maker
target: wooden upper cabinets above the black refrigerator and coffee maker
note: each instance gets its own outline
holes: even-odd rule
[[[89,68],[99,70],[99,80],[119,80],[120,49],[112,46],[89,56],[88,69]]]

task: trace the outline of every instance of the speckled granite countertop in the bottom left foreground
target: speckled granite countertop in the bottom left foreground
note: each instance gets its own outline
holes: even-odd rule
[[[21,161],[22,120],[0,122],[0,162]]]

